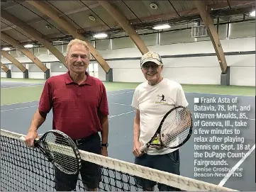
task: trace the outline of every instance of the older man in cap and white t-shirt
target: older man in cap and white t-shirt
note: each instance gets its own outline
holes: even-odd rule
[[[179,175],[179,149],[148,148],[140,152],[140,146],[150,141],[160,121],[171,108],[188,106],[182,86],[161,76],[162,58],[156,52],[147,52],[140,60],[145,76],[144,83],[138,85],[133,95],[132,106],[136,109],[133,124],[133,154],[135,164]],[[147,179],[137,179],[138,185],[145,191],[152,191],[156,185]],[[179,191],[158,183],[160,191]]]

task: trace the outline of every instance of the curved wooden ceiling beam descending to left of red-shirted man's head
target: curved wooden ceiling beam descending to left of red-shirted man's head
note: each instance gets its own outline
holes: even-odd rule
[[[55,57],[57,57],[58,60],[60,60],[60,62],[62,62],[62,64],[65,64],[65,66],[67,67],[67,64],[65,62],[65,56],[62,55],[62,53],[59,50],[57,50],[57,48],[53,46],[48,40],[43,38],[37,30],[35,30],[31,26],[28,26],[27,23],[21,21],[20,19],[16,18],[15,16],[11,15],[10,13],[4,10],[1,10],[1,17],[18,26],[18,28],[21,28],[26,33],[35,38],[35,40],[37,40],[39,43],[45,46],[50,52],[52,52],[53,55],[55,55]]]

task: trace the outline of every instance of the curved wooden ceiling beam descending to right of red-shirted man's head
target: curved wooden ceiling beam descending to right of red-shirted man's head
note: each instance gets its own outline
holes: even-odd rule
[[[84,40],[89,47],[91,55],[94,56],[94,58],[101,65],[101,67],[104,69],[104,71],[106,73],[108,73],[108,71],[110,70],[110,67],[108,66],[107,62],[99,54],[99,52],[94,48],[94,46],[91,45],[91,43],[89,43],[89,41],[86,38],[84,38],[83,35],[81,35],[80,33],[77,33],[77,28],[75,28],[71,22],[65,20],[65,18],[60,18],[58,16],[57,11],[55,11],[50,6],[48,6],[47,4],[45,4],[41,1],[26,1],[26,2],[28,2],[28,4],[34,6],[41,13],[50,17],[52,19],[52,21],[55,21],[55,23],[57,23],[61,28],[65,29],[74,38],[77,38],[79,40]]]

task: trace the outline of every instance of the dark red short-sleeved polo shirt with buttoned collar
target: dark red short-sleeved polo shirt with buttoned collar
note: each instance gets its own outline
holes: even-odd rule
[[[87,80],[78,85],[66,74],[50,77],[40,98],[38,110],[52,109],[52,128],[65,132],[73,140],[101,131],[99,114],[108,115],[104,84],[87,73]]]

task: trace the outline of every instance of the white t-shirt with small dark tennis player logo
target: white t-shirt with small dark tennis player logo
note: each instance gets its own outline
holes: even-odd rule
[[[138,85],[133,94],[131,106],[140,111],[140,137],[143,144],[150,141],[164,115],[175,106],[187,107],[189,103],[182,86],[175,81],[162,79],[159,84],[150,86],[148,81]],[[167,154],[176,149],[148,148],[148,154]]]

